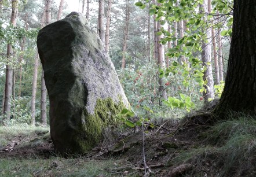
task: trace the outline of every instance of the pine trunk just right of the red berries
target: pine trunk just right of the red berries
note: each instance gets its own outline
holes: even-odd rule
[[[160,31],[160,28],[162,27],[160,24],[161,20],[163,20],[163,17],[161,17],[158,20],[158,32]],[[158,67],[164,68],[163,44],[160,43],[161,38],[163,38],[163,34],[158,36]],[[163,99],[167,99],[166,90],[164,89],[163,78],[160,78],[160,77],[159,77],[159,93],[161,94],[161,97]]]

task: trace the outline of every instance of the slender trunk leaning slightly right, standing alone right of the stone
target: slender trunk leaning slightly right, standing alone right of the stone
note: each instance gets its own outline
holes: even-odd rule
[[[124,38],[123,38],[122,69],[125,69],[126,46],[127,46],[128,31],[129,31],[129,21],[130,21],[130,2],[129,2],[129,0],[126,0],[126,9],[125,9],[125,31],[124,31]]]

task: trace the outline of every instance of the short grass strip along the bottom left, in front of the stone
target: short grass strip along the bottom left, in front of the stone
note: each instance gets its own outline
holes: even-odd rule
[[[111,176],[107,171],[119,162],[109,160],[28,158],[22,160],[1,159],[0,176]]]

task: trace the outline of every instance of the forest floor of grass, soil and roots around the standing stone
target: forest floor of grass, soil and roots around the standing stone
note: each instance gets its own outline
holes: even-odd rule
[[[144,134],[109,128],[96,148],[70,158],[54,153],[49,128],[0,127],[0,176],[144,176],[144,157],[147,176],[256,176],[255,117],[213,125],[198,117],[163,120]]]

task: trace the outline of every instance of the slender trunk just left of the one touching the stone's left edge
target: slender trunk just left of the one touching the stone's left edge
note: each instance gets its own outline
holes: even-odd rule
[[[32,81],[32,95],[31,95],[31,123],[35,124],[35,98],[36,98],[36,83],[37,83],[37,74],[38,74],[38,53],[36,53],[35,64],[34,64],[34,73]],[[45,124],[46,125],[46,124]]]

